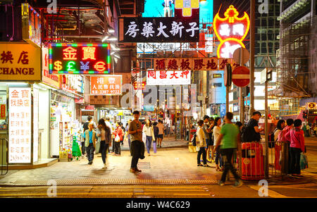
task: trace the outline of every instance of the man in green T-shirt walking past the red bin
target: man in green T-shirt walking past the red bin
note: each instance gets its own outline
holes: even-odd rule
[[[216,141],[216,146],[214,149],[217,149],[217,147],[220,145],[220,154],[223,158],[223,163],[225,163],[223,175],[221,175],[220,186],[225,185],[225,179],[230,170],[232,175],[235,177],[234,187],[240,187],[243,184],[242,180],[240,179],[239,175],[237,175],[237,172],[235,168],[233,168],[231,162],[232,155],[234,151],[237,150],[237,145],[240,144],[240,131],[237,126],[231,122],[232,118],[232,113],[225,113],[225,125],[221,127],[220,135]]]

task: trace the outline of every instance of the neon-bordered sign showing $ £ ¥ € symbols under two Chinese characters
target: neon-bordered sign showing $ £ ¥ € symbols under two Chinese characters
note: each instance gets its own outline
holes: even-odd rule
[[[50,74],[108,74],[110,44],[49,44]]]

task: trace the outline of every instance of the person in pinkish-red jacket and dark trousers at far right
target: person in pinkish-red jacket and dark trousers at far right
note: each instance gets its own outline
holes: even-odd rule
[[[294,120],[294,129],[285,135],[286,139],[290,141],[290,174],[294,177],[304,177],[301,175],[299,165],[301,153],[304,154],[305,151],[304,131],[301,127],[302,120]]]

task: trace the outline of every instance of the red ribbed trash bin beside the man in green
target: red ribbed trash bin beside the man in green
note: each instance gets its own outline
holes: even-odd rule
[[[263,178],[263,146],[258,142],[242,143],[242,180],[261,180]]]

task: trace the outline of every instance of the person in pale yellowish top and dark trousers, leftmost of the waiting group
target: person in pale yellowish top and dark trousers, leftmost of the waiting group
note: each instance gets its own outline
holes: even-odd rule
[[[198,121],[198,130],[197,130],[197,137],[196,137],[196,144],[197,144],[197,166],[205,166],[209,167],[207,164],[207,158],[206,158],[206,137],[205,137],[205,132],[203,130],[204,127],[204,120],[199,120]],[[203,163],[204,165],[201,165],[200,158],[203,158]]]

